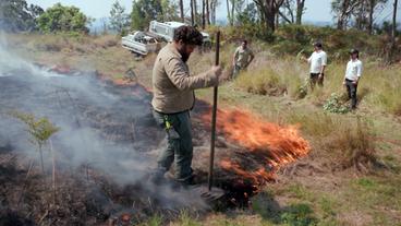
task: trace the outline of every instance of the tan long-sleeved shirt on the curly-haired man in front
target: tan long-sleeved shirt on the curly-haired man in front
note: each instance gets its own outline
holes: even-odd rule
[[[160,50],[151,79],[151,105],[155,110],[165,114],[190,110],[195,103],[194,90],[218,84],[218,76],[211,71],[191,76],[187,64],[173,44]]]

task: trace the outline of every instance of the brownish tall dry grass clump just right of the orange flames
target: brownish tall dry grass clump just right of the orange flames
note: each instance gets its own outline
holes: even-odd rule
[[[376,163],[374,130],[360,117],[294,111],[287,119],[311,138],[314,154],[328,159],[335,168],[364,170]]]

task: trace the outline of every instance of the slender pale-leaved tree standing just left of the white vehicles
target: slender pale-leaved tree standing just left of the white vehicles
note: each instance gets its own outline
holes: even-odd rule
[[[125,9],[116,0],[110,10],[110,28],[123,34],[129,24],[129,15],[125,13]]]

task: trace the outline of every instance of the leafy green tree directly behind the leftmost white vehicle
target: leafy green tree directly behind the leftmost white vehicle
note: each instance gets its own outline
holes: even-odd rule
[[[162,15],[160,0],[136,0],[132,5],[131,28],[145,29],[149,22]]]

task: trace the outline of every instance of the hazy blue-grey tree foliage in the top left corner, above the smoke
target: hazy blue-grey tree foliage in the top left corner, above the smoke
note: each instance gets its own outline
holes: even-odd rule
[[[0,29],[7,32],[23,32],[36,29],[35,20],[44,10],[35,4],[27,4],[25,0],[0,1]]]

